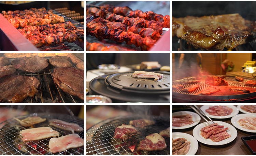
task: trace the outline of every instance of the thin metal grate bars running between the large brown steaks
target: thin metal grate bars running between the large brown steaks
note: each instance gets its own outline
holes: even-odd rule
[[[32,57],[32,53],[31,53],[31,57]],[[30,57],[30,58],[31,58]],[[38,56],[39,57],[39,56]],[[53,56],[45,56],[45,57],[43,57],[43,58],[45,58],[45,59],[47,59],[47,61],[49,62],[49,59],[51,59]],[[29,57],[28,57],[29,58]],[[12,62],[14,59],[17,59],[17,58],[9,58],[9,62]],[[10,63],[10,65],[12,65],[11,63]],[[73,64],[72,64],[73,65]],[[44,75],[44,78],[45,78],[45,80],[46,80],[46,82],[47,82],[47,84],[45,84],[45,85],[47,85],[48,86],[48,89],[49,89],[49,93],[51,94],[51,98],[52,98],[52,102],[53,103],[55,103],[54,102],[54,99],[53,99],[53,95],[52,95],[52,89],[49,87],[49,83],[48,83],[48,81],[47,81],[47,78],[46,78],[46,75],[51,75],[50,77],[53,79],[53,73],[51,72],[51,70],[52,71],[54,71],[54,69],[55,69],[55,67],[54,66],[52,66],[53,67],[53,69],[51,68],[51,69],[49,69],[49,65],[44,69],[44,70],[42,70],[42,71],[40,71],[40,72],[37,72],[37,73],[31,73],[31,72],[26,72],[26,71],[21,71],[21,70],[16,70],[16,71],[18,71],[18,74],[17,75],[21,75],[21,76],[35,76],[38,80],[39,80],[39,82],[40,82],[40,85],[39,85],[39,88],[38,88],[38,91],[40,92],[40,94],[41,94],[41,101],[42,101],[42,103],[44,103],[43,102],[43,93],[42,93],[42,90],[41,90],[41,83],[44,83],[44,82],[42,82],[41,81],[41,79],[39,79],[39,77],[40,77],[40,75]],[[74,65],[73,65],[73,67],[75,67]],[[76,68],[76,67],[75,67]],[[45,71],[47,71],[47,72],[45,72]],[[42,73],[43,72],[43,73]],[[21,73],[21,74],[20,74]],[[60,89],[59,88],[59,86],[57,85],[57,84],[55,84],[55,86],[56,86],[56,88],[57,88],[57,90],[58,90],[58,93],[59,93],[59,95],[60,95],[60,98],[61,98],[61,101],[63,102],[63,103],[65,103],[65,98],[63,98],[64,96],[63,96],[63,94],[65,93],[64,91],[62,91],[62,89]],[[61,91],[63,92],[63,93],[61,93]],[[69,96],[71,97],[71,99],[73,100],[72,102],[73,103],[83,103],[83,100],[81,100],[81,99],[79,99],[78,97],[77,98],[75,98],[75,99],[78,99],[78,100],[74,100],[74,98],[73,98],[73,96],[70,94],[70,93],[67,93],[67,94],[69,94]],[[35,97],[35,96],[34,96]],[[74,96],[75,97],[75,96]],[[27,98],[30,98],[31,99],[31,103],[33,103],[32,102],[32,99],[33,99],[33,97],[27,97]],[[24,99],[24,101],[25,101],[25,99]],[[35,100],[35,101],[37,101],[37,100]],[[6,102],[7,103],[7,102]]]

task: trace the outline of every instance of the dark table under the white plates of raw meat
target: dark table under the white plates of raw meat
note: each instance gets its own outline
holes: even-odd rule
[[[203,105],[197,105],[197,106],[200,108]],[[235,105],[235,106],[237,106],[237,105]],[[172,110],[172,112],[176,112],[176,111],[195,112],[193,109]],[[243,113],[239,111],[238,114],[243,114]],[[212,120],[213,121],[222,121],[222,122],[226,122],[226,123],[232,125],[231,118],[227,118],[227,119],[213,119],[212,118]],[[201,120],[198,124],[201,124],[203,122],[205,122],[205,120],[203,118],[201,118]],[[197,125],[190,127],[190,128],[186,128],[186,129],[172,129],[172,132],[181,132],[181,133],[186,133],[186,134],[193,136],[193,129]],[[234,128],[236,128],[236,127],[234,127]],[[248,148],[242,142],[241,137],[255,135],[256,133],[245,132],[238,128],[236,128],[236,129],[237,129],[237,138],[225,145],[215,145],[215,146],[207,145],[207,144],[204,144],[204,143],[201,143],[198,141],[198,150],[195,155],[252,155],[252,153],[248,150]]]

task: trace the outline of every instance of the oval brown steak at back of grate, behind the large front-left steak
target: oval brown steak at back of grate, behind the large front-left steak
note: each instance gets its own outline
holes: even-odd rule
[[[48,67],[48,62],[43,57],[31,57],[27,58],[26,56],[22,58],[16,58],[12,61],[14,68],[22,71],[36,73],[44,68]]]

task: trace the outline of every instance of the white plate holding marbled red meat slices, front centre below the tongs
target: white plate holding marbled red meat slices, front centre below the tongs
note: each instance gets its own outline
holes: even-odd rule
[[[205,139],[203,136],[200,135],[201,131],[200,129],[208,126],[209,123],[208,122],[204,122],[201,123],[199,125],[197,125],[194,129],[193,129],[193,136],[199,141],[202,142],[204,144],[208,144],[208,145],[224,145],[227,144],[231,141],[233,141],[234,139],[236,139],[237,137],[237,129],[235,127],[233,127],[232,125],[226,123],[226,122],[222,122],[222,121],[214,121],[215,123],[218,123],[218,125],[223,125],[224,128],[228,127],[228,130],[226,131],[228,134],[230,134],[231,136],[227,139],[224,139],[222,141],[219,142],[213,142],[210,138]]]

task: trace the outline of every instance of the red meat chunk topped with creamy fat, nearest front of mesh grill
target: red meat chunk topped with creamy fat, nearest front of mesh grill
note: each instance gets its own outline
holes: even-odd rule
[[[160,136],[158,133],[150,134],[146,136],[145,140],[140,141],[138,150],[146,151],[162,151],[167,148],[165,139]]]

